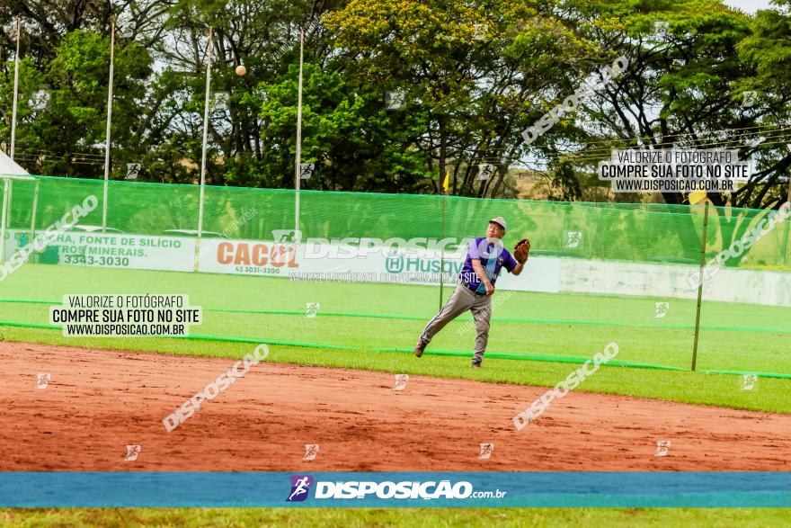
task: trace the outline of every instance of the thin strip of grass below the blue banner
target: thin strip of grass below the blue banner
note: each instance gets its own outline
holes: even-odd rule
[[[0,526],[665,526],[763,527],[787,524],[780,508],[504,508],[344,509],[312,508],[74,508],[0,510]]]

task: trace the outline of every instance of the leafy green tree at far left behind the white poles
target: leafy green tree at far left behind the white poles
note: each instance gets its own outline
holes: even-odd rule
[[[30,58],[22,61],[18,142],[44,152],[37,159],[25,160],[25,165],[39,174],[97,177],[103,173],[110,39],[91,31],[73,31],[54,51],[55,58],[43,65],[43,71]],[[141,121],[146,122],[140,120],[146,114],[141,112],[145,108],[143,82],[151,74],[151,64],[147,50],[137,44],[117,49],[112,138],[120,159],[136,159],[147,147],[136,131]],[[0,104],[9,108],[13,80],[4,88],[7,95]],[[37,94],[47,95],[39,101],[46,104],[39,108],[32,101]]]

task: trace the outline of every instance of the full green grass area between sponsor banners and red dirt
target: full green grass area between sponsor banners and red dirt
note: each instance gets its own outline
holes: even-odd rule
[[[8,325],[46,325],[47,301],[58,302],[67,293],[142,292],[187,293],[191,303],[204,310],[204,322],[192,328],[191,336],[242,342],[76,338],[61,336],[57,330]],[[446,288],[446,297],[449,292]],[[225,357],[241,356],[253,343],[265,341],[276,344],[271,361],[541,386],[555,385],[575,368],[564,361],[590,358],[615,341],[618,362],[678,370],[613,366],[586,380],[580,389],[791,413],[789,379],[761,378],[759,390],[742,391],[741,378],[705,372],[791,373],[788,308],[704,303],[699,371],[690,372],[694,301],[671,300],[667,317],[658,319],[653,318],[653,299],[500,291],[495,294],[498,304],[488,359],[482,371],[472,371],[467,357],[475,330],[468,317],[440,332],[420,361],[411,354],[422,327],[440,307],[436,287],[27,264],[0,282],[0,300],[40,301],[0,302],[0,321],[6,323],[0,331],[13,341]],[[320,303],[316,318],[304,317],[307,302]],[[502,359],[520,356],[556,361]]]

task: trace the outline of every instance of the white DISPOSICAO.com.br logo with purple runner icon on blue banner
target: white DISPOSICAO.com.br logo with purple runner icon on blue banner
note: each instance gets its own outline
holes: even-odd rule
[[[385,480],[349,480],[339,482],[316,481],[310,475],[295,475],[290,478],[291,491],[286,502],[304,501],[310,494],[310,488],[316,484],[316,499],[464,499],[464,498],[502,498],[507,491],[475,491],[473,485],[466,480],[451,483],[450,480],[428,480],[425,482],[404,480],[394,482]]]

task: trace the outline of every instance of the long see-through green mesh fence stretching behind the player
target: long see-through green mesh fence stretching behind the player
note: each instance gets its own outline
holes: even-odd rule
[[[162,247],[173,240],[182,249],[196,243],[196,185],[108,183],[104,237],[129,246],[102,262],[95,253],[88,263],[80,260],[80,251],[90,255],[93,242],[81,246],[78,239],[102,236],[101,180],[0,180],[0,258],[6,270],[0,282],[0,327],[50,328],[49,305],[64,294],[176,293],[189,294],[192,304],[204,310],[204,322],[192,328],[191,339],[407,353],[454,287],[286,278],[321,269],[321,263],[311,268],[291,262],[278,274],[236,266],[196,271],[203,268],[194,255]],[[79,221],[82,227],[67,231],[71,238],[11,266],[9,273],[19,246],[91,195],[98,207]],[[620,365],[689,371],[694,353],[697,371],[791,378],[791,219],[762,222],[769,211],[316,191],[301,191],[298,199],[297,219],[294,191],[207,186],[200,247],[214,248],[218,238],[271,246],[273,231],[297,227],[303,241],[461,240],[483,236],[487,220],[502,216],[509,227],[505,245],[529,237],[533,247],[525,272],[529,278],[517,280],[532,281],[541,291],[495,293],[488,358],[582,362],[615,341]],[[760,238],[727,260],[698,291],[689,276],[699,273],[701,255],[710,261],[756,226],[763,228]],[[134,244],[132,235],[140,236]],[[123,255],[130,249],[137,256],[128,263]],[[200,253],[200,263],[218,255],[214,249]],[[438,258],[444,265],[444,255]],[[370,264],[370,270],[385,272],[383,259],[386,264]],[[158,269],[133,269],[135,262]],[[331,259],[326,266],[339,270],[344,264]],[[422,264],[415,266],[420,270]],[[163,271],[173,267],[181,271]],[[317,303],[315,316],[306,311],[308,303]],[[451,323],[427,355],[469,356],[475,340],[470,320]],[[529,363],[514,364],[529,368]]]

